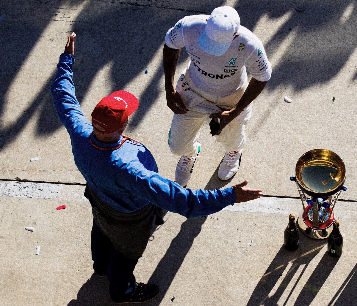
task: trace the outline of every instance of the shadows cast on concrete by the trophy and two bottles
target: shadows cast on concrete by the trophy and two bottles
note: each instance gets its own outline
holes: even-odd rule
[[[247,303],[248,306],[280,305],[278,302],[283,303],[281,305],[286,305],[287,303],[292,305],[291,301],[289,301],[292,292],[297,284],[301,282],[301,278],[310,262],[327,243],[326,239],[313,240],[303,235],[300,235],[300,240],[302,243],[296,251],[287,251],[283,246],[281,247],[255,287]],[[332,258],[327,253],[322,256],[310,278],[303,286],[294,305],[311,305],[337,261],[338,259]],[[288,294],[286,290],[289,290]],[[282,296],[286,294],[285,301],[282,301]]]

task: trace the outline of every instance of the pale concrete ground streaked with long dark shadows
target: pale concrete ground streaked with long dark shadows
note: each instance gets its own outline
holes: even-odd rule
[[[74,82],[87,118],[114,90],[134,93],[140,107],[126,134],[144,143],[160,173],[174,179],[178,158],[167,145],[172,112],[164,91],[164,36],[181,17],[209,15],[221,5],[235,7],[241,24],[262,40],[273,74],[254,102],[238,173],[218,179],[224,151],[206,121],[188,187],[222,188],[247,179],[265,196],[206,218],[167,213],[135,269],[138,281],[160,287],[147,305],[356,305],[352,0],[1,2],[1,305],[115,305],[107,279],[93,274],[85,182],[50,95],[68,35],[77,34]],[[187,61],[182,52],[176,77]],[[344,237],[339,259],[326,253],[326,239],[301,235],[297,251],[282,247],[288,215],[302,212],[290,176],[298,158],[316,148],[336,152],[346,164],[348,190],[336,206]]]

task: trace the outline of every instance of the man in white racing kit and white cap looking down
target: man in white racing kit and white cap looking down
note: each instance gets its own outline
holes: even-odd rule
[[[175,89],[174,76],[183,47],[190,62]],[[198,137],[207,116],[220,120],[212,136],[226,150],[218,177],[228,180],[240,164],[252,101],[271,76],[262,42],[240,25],[235,9],[222,6],[210,16],[186,16],[179,20],[165,36],[163,61],[167,106],[175,113],[169,145],[172,153],[181,156],[176,182],[186,186],[192,176],[201,150]],[[246,67],[252,75],[249,84]]]

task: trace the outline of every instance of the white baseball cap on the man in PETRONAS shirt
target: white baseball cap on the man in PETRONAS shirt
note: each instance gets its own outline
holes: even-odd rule
[[[231,45],[240,24],[241,19],[233,7],[217,7],[207,20],[198,39],[198,46],[212,55],[223,55]]]

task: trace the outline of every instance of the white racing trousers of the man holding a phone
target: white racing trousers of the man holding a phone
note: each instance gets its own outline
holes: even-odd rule
[[[181,95],[182,102],[186,105],[187,114],[174,114],[169,132],[170,150],[175,155],[195,155],[197,140],[200,136],[202,124],[207,116],[221,112],[221,108],[232,109],[245,92],[248,81],[241,89],[226,96],[210,95],[197,88],[188,75],[186,69],[177,81],[176,91]],[[235,119],[233,119],[221,132],[215,136],[226,151],[240,151],[246,144],[245,125],[252,114],[250,103]]]

